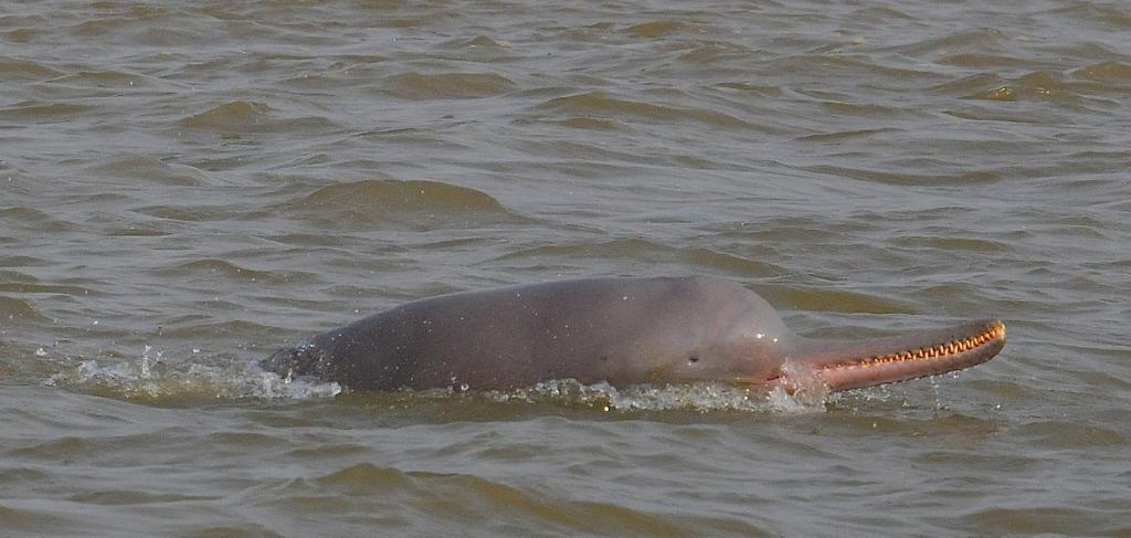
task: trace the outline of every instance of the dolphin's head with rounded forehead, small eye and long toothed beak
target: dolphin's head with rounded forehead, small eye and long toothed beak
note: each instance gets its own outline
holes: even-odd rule
[[[815,378],[831,391],[893,383],[967,368],[1005,345],[999,320],[864,339],[812,339],[795,335],[757,294],[714,280],[688,283],[694,302],[670,310],[668,340],[653,378],[724,381],[796,389]],[[693,320],[690,321],[690,320]],[[674,352],[674,353],[672,353]]]

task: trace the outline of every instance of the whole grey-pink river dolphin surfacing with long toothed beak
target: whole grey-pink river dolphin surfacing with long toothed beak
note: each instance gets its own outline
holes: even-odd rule
[[[280,349],[264,368],[353,390],[510,389],[573,379],[613,385],[719,381],[829,390],[988,361],[996,320],[897,337],[818,340],[753,292],[711,278],[593,278],[414,301]]]

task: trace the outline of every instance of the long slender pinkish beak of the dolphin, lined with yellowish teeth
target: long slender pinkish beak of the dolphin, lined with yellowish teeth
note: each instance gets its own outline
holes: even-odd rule
[[[1005,347],[1005,324],[998,320],[949,329],[866,340],[798,338],[793,367],[809,368],[829,390],[848,390],[936,375],[984,363]],[[770,380],[793,390],[789,375]]]

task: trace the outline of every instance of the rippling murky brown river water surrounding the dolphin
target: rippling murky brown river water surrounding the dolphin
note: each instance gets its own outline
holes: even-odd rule
[[[3,536],[1131,536],[1122,2],[0,5]],[[957,376],[339,393],[459,289],[713,275]]]

